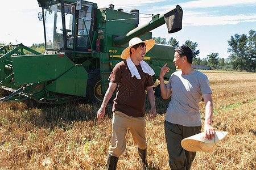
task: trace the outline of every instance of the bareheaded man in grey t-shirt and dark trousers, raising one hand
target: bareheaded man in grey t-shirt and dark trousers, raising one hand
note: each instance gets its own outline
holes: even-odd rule
[[[175,49],[174,63],[176,69],[167,83],[163,76],[170,69],[164,65],[159,79],[163,99],[172,96],[166,111],[164,132],[166,134],[169,165],[171,169],[190,169],[196,152],[184,150],[181,140],[201,132],[199,102],[205,103],[204,138],[212,140],[213,103],[212,90],[207,76],[192,68],[192,50],[188,46]]]

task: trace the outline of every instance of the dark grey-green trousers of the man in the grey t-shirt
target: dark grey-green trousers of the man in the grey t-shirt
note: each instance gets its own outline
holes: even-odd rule
[[[189,152],[181,147],[181,140],[201,133],[201,126],[187,127],[164,121],[169,165],[171,169],[190,169],[196,152]]]

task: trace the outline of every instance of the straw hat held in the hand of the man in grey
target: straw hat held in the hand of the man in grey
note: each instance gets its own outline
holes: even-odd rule
[[[181,141],[184,150],[190,152],[204,151],[212,152],[217,148],[217,143],[228,134],[228,131],[215,131],[214,138],[208,140],[204,138],[204,132],[185,138]]]

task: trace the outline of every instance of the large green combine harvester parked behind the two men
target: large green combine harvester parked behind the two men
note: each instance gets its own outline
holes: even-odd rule
[[[169,33],[181,29],[182,8],[152,16],[139,25],[139,11],[114,10],[113,5],[98,8],[96,3],[76,0],[38,0],[42,12],[46,51],[40,54],[23,44],[0,47],[0,86],[13,94],[0,101],[34,99],[40,103],[65,103],[75,99],[103,100],[109,75],[121,62],[122,50],[133,37],[152,39],[152,29],[167,23]],[[31,54],[25,54],[29,51]],[[172,64],[174,48],[155,44],[144,57],[154,69]],[[159,95],[160,87],[155,88]]]

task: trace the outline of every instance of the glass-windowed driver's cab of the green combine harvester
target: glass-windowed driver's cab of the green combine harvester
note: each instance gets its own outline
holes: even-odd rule
[[[93,55],[93,34],[97,26],[96,3],[81,1],[40,1],[43,11],[46,54],[64,53],[76,61],[75,52]],[[80,5],[77,6],[77,5]],[[78,10],[79,9],[79,10]],[[95,48],[94,48],[95,49]]]

